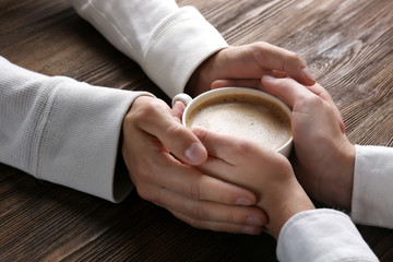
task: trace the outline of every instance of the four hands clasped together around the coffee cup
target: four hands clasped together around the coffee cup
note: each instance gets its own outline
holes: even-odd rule
[[[350,209],[355,146],[329,93],[296,53],[266,43],[211,56],[186,92],[261,88],[291,109],[295,155],[181,124],[184,105],[136,98],[123,122],[122,155],[141,198],[196,228],[278,238],[295,214],[321,202]],[[306,193],[307,192],[307,193]]]

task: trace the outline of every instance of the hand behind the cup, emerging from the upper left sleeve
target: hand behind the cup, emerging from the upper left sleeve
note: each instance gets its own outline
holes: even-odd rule
[[[184,90],[196,96],[210,88],[245,86],[259,88],[262,75],[270,73],[312,85],[314,79],[295,52],[259,41],[223,49],[205,60],[189,80]]]

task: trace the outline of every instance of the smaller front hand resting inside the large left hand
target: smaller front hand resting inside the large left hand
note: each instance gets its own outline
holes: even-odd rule
[[[252,190],[258,196],[257,205],[267,213],[267,233],[275,239],[291,216],[314,209],[296,180],[290,163],[279,153],[230,135],[202,129],[194,129],[194,132],[210,155],[198,168]]]

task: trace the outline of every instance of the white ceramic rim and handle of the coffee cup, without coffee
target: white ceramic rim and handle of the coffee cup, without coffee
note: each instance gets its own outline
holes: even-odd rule
[[[278,99],[277,97],[270,95],[265,92],[247,88],[247,87],[223,87],[223,88],[212,90],[212,91],[202,93],[201,95],[196,96],[193,99],[189,95],[181,93],[174,97],[172,105],[175,105],[175,103],[178,100],[182,102],[186,105],[186,109],[182,115],[182,123],[186,127],[188,127],[189,115],[193,111],[193,109],[195,107],[199,107],[200,105],[202,105],[203,103],[205,103],[210,99],[218,98],[221,96],[227,96],[227,95],[254,96],[254,97],[262,98],[262,100],[264,99],[264,100],[271,102],[274,105],[276,105],[288,117],[288,119],[290,121],[291,110],[281,99]],[[289,129],[290,129],[290,127],[289,127]],[[289,132],[290,132],[290,130],[289,130]],[[283,154],[284,156],[288,157],[290,154],[291,147],[293,147],[293,136],[290,133],[288,140],[282,146],[279,146],[276,151],[278,153]]]

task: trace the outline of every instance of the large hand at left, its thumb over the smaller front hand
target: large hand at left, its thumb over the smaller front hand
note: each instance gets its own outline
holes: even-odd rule
[[[182,111],[181,105],[172,112],[163,100],[141,96],[124,118],[122,155],[138,193],[194,227],[259,234],[266,217],[251,206],[252,192],[191,167],[207,154],[172,116]]]

